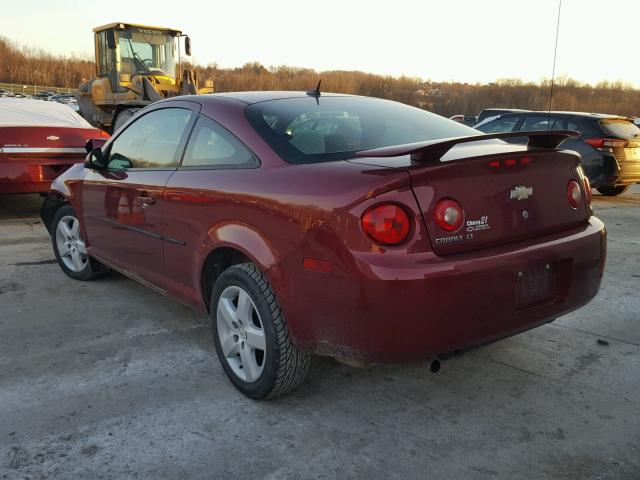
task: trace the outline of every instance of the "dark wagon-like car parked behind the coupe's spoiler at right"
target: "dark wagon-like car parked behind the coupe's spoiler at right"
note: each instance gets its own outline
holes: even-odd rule
[[[474,128],[485,133],[575,130],[580,137],[566,140],[562,147],[580,154],[582,168],[601,194],[620,195],[629,185],[640,182],[640,128],[626,117],[579,112],[509,113]],[[509,141],[522,143],[526,138]]]

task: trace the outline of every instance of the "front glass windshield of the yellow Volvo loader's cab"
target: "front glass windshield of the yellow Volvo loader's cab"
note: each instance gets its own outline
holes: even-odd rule
[[[175,37],[146,28],[118,31],[120,73],[175,78]]]

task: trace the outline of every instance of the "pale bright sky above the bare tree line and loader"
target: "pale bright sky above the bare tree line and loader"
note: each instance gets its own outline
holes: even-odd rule
[[[93,56],[114,21],[188,33],[194,59],[258,61],[424,79],[539,81],[553,65],[558,0],[26,0],[0,7],[0,35]],[[556,74],[640,86],[640,0],[563,0]]]

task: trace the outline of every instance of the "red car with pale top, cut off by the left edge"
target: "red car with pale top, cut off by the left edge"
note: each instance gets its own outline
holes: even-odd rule
[[[51,181],[82,163],[91,138],[108,138],[69,107],[0,99],[0,193],[46,193]]]

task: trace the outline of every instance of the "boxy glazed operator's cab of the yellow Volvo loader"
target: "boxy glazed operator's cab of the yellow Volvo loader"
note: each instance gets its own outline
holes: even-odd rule
[[[127,90],[136,76],[147,76],[165,88],[175,88],[180,31],[116,23],[94,32],[97,75],[110,80],[113,92]],[[190,54],[188,37],[185,47]]]

